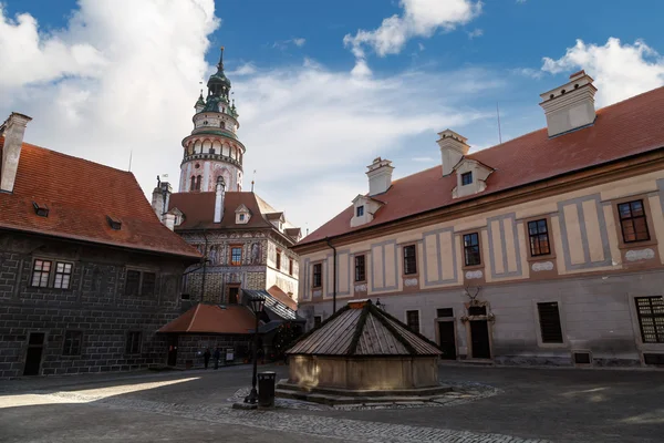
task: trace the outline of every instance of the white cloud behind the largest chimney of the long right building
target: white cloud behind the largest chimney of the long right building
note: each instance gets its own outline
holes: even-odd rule
[[[558,60],[543,59],[542,71],[552,74],[583,69],[594,80],[600,106],[664,85],[664,58],[645,42],[622,44],[610,38],[604,45],[577,40]]]

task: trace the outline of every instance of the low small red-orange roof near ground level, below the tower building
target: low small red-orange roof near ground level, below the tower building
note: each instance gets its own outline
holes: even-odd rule
[[[245,306],[198,303],[157,332],[250,333],[255,328],[256,317]]]

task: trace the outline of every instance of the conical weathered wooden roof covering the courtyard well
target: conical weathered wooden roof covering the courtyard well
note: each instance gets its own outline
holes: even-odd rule
[[[288,354],[439,356],[436,343],[412,331],[371,300],[350,301],[304,334]]]

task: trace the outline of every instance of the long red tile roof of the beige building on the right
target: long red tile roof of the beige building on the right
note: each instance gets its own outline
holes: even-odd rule
[[[453,199],[456,176],[443,177],[440,166],[435,166],[394,181],[387,192],[376,195],[384,206],[371,223],[351,228],[350,206],[298,246],[664,147],[664,87],[601,109],[596,115],[590,127],[552,138],[542,128],[468,155],[496,169],[484,193]]]

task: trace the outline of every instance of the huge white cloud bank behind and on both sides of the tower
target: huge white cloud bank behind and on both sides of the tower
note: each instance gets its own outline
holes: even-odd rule
[[[0,119],[23,112],[34,117],[27,141],[110,166],[126,169],[133,152],[132,171],[147,193],[157,175],[178,182],[180,141],[191,131],[198,83],[211,69],[205,53],[217,58],[218,49],[208,48],[219,24],[212,0],[83,0],[68,27],[51,34],[28,16],[0,18]],[[18,33],[25,25],[32,29]],[[38,52],[27,59],[8,40]],[[96,55],[76,70],[45,65],[30,76],[35,61],[53,56],[51,41],[64,54],[83,47]],[[225,55],[232,65],[232,48]],[[312,230],[366,189],[372,158],[401,157],[395,176],[413,172],[413,136],[430,134],[435,157],[435,133],[485,119],[469,101],[501,86],[483,70],[374,78],[330,71],[312,59],[277,69],[243,63],[231,81],[247,146],[245,188],[257,169],[257,193]]]

